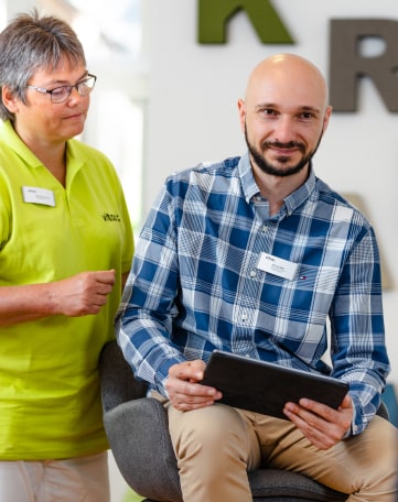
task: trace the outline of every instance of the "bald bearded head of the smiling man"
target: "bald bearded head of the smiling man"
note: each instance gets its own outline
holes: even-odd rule
[[[262,61],[238,109],[255,174],[303,183],[332,111],[316,66],[293,54]]]

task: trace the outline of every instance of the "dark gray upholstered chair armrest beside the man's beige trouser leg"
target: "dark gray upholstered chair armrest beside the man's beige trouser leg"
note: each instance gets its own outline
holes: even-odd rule
[[[129,401],[104,415],[115,461],[126,482],[141,496],[182,502],[168,415],[153,397]]]

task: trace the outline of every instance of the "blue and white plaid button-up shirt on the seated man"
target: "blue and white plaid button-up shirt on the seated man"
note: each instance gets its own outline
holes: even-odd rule
[[[265,272],[261,253],[297,264],[294,276]],[[358,434],[389,372],[380,290],[364,216],[312,168],[269,216],[246,154],[166,179],[137,243],[118,341],[163,395],[172,364],[207,361],[214,349],[312,372],[325,371],[330,350]]]

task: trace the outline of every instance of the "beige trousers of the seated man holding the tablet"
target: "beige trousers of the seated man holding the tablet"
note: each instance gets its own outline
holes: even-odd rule
[[[397,502],[398,429],[384,418],[320,450],[289,421],[222,404],[165,406],[185,502],[251,502],[247,470],[260,465],[304,473],[351,502]]]

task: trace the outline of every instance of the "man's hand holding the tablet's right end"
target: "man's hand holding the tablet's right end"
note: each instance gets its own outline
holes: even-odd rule
[[[283,413],[313,445],[329,449],[342,440],[349,429],[354,410],[347,394],[338,410],[302,399],[299,404],[287,403]]]

